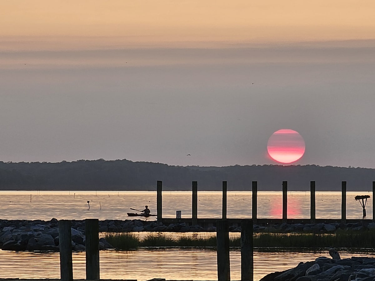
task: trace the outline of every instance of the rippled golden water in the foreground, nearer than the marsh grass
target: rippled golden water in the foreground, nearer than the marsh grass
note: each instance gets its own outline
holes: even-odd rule
[[[254,280],[274,271],[282,271],[299,262],[327,256],[323,253],[254,253]],[[340,253],[341,258],[371,254]],[[85,253],[73,253],[73,276],[84,279]],[[241,279],[241,253],[230,252],[231,280]],[[17,266],[15,266],[17,265]],[[58,253],[16,253],[0,250],[0,278],[60,278]],[[210,250],[137,250],[101,251],[100,277],[102,279],[152,278],[167,280],[217,280],[216,252]]]

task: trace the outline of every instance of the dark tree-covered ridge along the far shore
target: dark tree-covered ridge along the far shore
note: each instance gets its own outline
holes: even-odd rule
[[[0,190],[251,190],[258,181],[259,191],[279,191],[282,181],[288,190],[309,191],[310,181],[317,191],[340,191],[347,181],[348,191],[372,191],[375,169],[318,165],[247,165],[226,167],[170,166],[130,160],[78,160],[48,162],[0,161]]]

